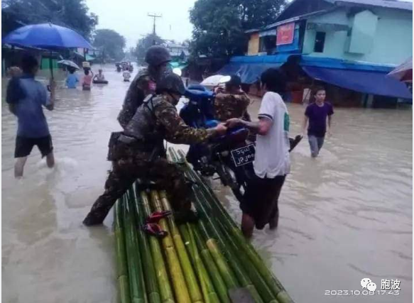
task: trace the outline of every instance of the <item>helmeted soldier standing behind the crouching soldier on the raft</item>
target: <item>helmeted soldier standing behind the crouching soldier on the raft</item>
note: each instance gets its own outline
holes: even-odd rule
[[[171,56],[166,48],[160,45],[153,45],[148,48],[145,61],[148,68],[144,68],[135,76],[129,86],[124,99],[124,104],[118,115],[119,124],[122,128],[129,123],[134,116],[136,109],[140,106],[148,94],[155,94],[156,83],[165,72],[169,72]]]

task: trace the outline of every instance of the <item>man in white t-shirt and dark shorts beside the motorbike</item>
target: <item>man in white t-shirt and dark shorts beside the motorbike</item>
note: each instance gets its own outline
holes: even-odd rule
[[[229,128],[245,126],[257,133],[254,172],[240,208],[243,211],[241,230],[251,237],[254,226],[263,229],[278,226],[278,197],[285,177],[290,172],[289,114],[279,93],[285,91],[285,77],[280,70],[270,68],[261,75],[266,94],[258,111],[258,121],[227,120]]]

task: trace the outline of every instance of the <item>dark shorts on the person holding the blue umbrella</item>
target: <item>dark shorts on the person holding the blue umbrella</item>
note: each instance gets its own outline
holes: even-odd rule
[[[40,150],[40,153],[42,153],[42,158],[52,153],[53,144],[52,137],[50,135],[41,138],[26,138],[17,136],[14,158],[27,157],[31,154],[33,146],[35,145]]]

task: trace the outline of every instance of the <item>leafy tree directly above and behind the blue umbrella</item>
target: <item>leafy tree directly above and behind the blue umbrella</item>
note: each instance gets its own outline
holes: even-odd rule
[[[98,23],[85,0],[3,0],[1,17],[2,35],[20,26],[50,22],[72,28],[89,40]]]

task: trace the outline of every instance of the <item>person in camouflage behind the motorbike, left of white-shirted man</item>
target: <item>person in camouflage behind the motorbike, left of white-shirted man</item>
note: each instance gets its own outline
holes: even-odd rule
[[[215,117],[219,121],[227,121],[231,118],[244,118],[250,120],[247,113],[247,106],[250,99],[240,88],[241,79],[239,76],[231,76],[226,82],[226,89],[219,91],[214,100]]]

